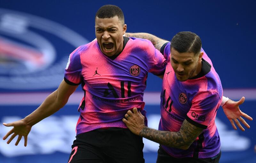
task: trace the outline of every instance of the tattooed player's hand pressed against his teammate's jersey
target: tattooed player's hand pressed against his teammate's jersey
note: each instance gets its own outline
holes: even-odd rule
[[[128,110],[124,117],[123,122],[126,124],[128,129],[131,130],[132,133],[139,135],[140,131],[145,127],[145,117],[140,113],[140,111],[138,112],[136,107],[134,107],[132,111]]]

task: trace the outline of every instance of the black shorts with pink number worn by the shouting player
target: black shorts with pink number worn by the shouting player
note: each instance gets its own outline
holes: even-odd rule
[[[97,129],[76,136],[68,163],[144,163],[143,147],[129,129]]]

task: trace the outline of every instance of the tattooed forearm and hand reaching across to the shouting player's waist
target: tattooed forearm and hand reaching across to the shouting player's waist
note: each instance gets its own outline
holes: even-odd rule
[[[194,126],[187,120],[184,120],[178,132],[151,129],[144,125],[144,116],[138,112],[137,108],[133,108],[133,113],[129,110],[127,114],[125,114],[125,118],[123,118],[123,122],[134,134],[159,144],[183,150],[188,149],[204,130]]]

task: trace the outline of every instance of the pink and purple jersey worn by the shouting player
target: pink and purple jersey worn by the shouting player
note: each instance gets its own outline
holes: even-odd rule
[[[81,83],[84,90],[76,134],[127,128],[122,119],[133,107],[145,116],[143,93],[148,72],[162,75],[165,65],[164,56],[144,39],[124,37],[123,51],[113,57],[100,51],[97,40],[78,47],[69,56],[64,78],[70,85]]]

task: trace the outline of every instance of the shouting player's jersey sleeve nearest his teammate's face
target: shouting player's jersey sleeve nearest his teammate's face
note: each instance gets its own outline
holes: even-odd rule
[[[152,74],[157,76],[163,75],[167,61],[160,53],[160,51],[157,50],[150,41],[148,44],[148,72],[151,72]]]

